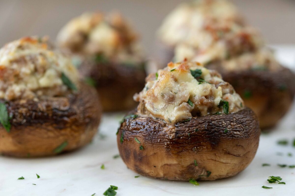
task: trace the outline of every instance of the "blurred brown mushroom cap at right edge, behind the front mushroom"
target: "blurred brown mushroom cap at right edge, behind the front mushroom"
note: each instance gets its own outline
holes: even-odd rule
[[[224,81],[232,84],[245,105],[255,112],[262,129],[275,126],[293,102],[295,74],[288,68],[282,67],[274,72],[217,71],[221,72]]]

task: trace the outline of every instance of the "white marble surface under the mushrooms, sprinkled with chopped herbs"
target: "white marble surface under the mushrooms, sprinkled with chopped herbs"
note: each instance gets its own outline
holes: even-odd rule
[[[286,48],[278,49],[280,53],[281,49],[284,51]],[[294,49],[287,51],[288,54],[292,54],[292,51],[295,54]],[[292,62],[292,55],[285,56],[290,58],[284,59],[285,61]],[[295,57],[293,62],[295,63]],[[96,135],[91,144],[72,153],[49,158],[0,157],[0,195],[102,195],[109,185],[119,187],[118,196],[294,195],[295,168],[281,168],[277,164],[295,164],[295,147],[290,144],[295,139],[295,104],[276,130],[260,136],[257,154],[248,168],[234,177],[200,182],[199,186],[189,182],[154,180],[142,176],[135,178],[138,174],[127,169],[121,158],[113,158],[118,154],[115,133],[121,118],[122,114],[104,115],[99,128],[100,134]],[[105,137],[102,138],[101,135]],[[288,139],[289,145],[277,145],[276,142],[280,139]],[[292,153],[293,156],[287,156],[287,153]],[[263,163],[271,166],[262,167]],[[100,168],[102,164],[105,165],[104,170]],[[40,175],[39,179],[36,173]],[[266,180],[271,175],[281,176],[286,185],[269,184]],[[25,179],[17,180],[21,176]],[[263,189],[263,185],[273,189]]]

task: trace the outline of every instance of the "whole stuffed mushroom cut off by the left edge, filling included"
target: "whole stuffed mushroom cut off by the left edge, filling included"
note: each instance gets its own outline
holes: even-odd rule
[[[71,151],[95,135],[101,106],[71,58],[46,38],[25,37],[0,49],[0,153],[40,157]]]

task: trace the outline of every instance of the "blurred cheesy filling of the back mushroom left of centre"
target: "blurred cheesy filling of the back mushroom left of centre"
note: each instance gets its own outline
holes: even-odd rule
[[[119,14],[82,14],[66,24],[57,39],[62,48],[68,48],[74,53],[102,53],[113,61],[142,62],[137,35]]]

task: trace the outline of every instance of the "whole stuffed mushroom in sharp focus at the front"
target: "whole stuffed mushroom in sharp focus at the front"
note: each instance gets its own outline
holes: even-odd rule
[[[165,180],[216,180],[244,170],[258,148],[253,111],[220,74],[196,62],[150,74],[117,133],[131,170]]]

